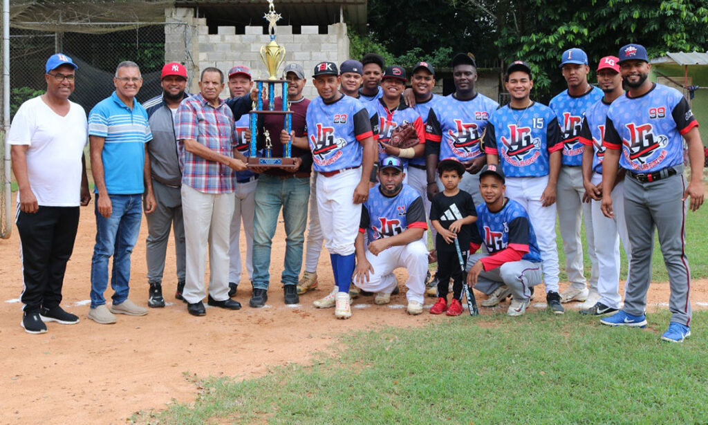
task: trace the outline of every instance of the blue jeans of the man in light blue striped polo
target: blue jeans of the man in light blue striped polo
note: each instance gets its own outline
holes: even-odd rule
[[[142,219],[142,194],[109,194],[112,204],[110,217],[98,212],[96,197],[96,245],[91,259],[91,308],[105,304],[103,292],[108,286],[108,259],[113,255],[113,304],[128,298],[130,287],[130,253],[137,242]]]

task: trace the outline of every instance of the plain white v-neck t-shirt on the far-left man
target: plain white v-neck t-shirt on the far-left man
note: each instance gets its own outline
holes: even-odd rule
[[[86,112],[71,102],[62,117],[42,100],[20,106],[8,133],[11,145],[28,145],[27,175],[40,206],[81,204],[81,156],[88,141]],[[20,194],[18,192],[18,202]]]

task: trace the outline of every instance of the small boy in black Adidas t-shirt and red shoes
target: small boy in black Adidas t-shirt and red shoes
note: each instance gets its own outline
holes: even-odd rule
[[[435,250],[438,252],[438,301],[430,308],[430,314],[446,313],[448,316],[462,314],[462,285],[464,272],[459,267],[457,247],[461,249],[462,262],[467,262],[467,247],[472,242],[472,224],[476,210],[472,195],[460,190],[457,185],[464,175],[464,165],[456,159],[444,159],[438,164],[438,175],[443,187],[435,194],[430,206],[430,223],[438,231]],[[456,246],[457,245],[457,246]],[[447,305],[447,292],[452,284],[452,301]]]

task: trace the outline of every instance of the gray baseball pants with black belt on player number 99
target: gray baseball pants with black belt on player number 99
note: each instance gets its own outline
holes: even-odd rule
[[[671,322],[689,326],[691,275],[685,252],[687,202],[681,200],[686,180],[683,167],[676,170],[678,174],[654,182],[641,183],[632,177],[624,179],[624,217],[632,244],[632,262],[622,310],[635,316],[644,314],[656,228],[668,272]]]

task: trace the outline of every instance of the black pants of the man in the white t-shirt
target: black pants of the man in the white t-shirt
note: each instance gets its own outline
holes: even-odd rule
[[[78,206],[40,206],[35,214],[18,211],[25,288],[20,296],[23,310],[38,312],[62,302],[62,284],[67,261],[74,250],[79,227]]]

